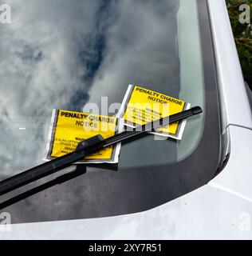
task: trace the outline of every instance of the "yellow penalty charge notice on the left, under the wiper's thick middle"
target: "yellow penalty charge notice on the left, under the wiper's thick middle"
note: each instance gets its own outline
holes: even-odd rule
[[[120,133],[121,130],[119,119],[115,117],[53,110],[45,160],[73,152],[77,144],[86,138],[91,138],[97,134],[103,138],[108,138]],[[119,154],[120,143],[117,143],[90,154],[77,163],[116,163]]]

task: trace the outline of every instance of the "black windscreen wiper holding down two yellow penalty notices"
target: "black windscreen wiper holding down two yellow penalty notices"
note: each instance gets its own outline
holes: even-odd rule
[[[59,170],[63,170],[66,167],[71,166],[73,163],[83,159],[86,155],[95,153],[96,151],[107,146],[112,146],[118,142],[123,142],[128,139],[137,138],[140,134],[145,134],[147,132],[156,130],[161,126],[167,126],[168,124],[178,122],[184,118],[189,118],[202,112],[203,110],[201,107],[195,106],[190,110],[184,110],[178,114],[172,114],[166,118],[148,122],[144,126],[137,126],[133,130],[127,130],[106,139],[102,138],[100,134],[92,138],[85,139],[77,145],[76,150],[74,150],[72,153],[65,154],[60,158],[55,158],[49,162],[35,166],[30,170],[26,170],[0,182],[0,196],[40,178],[44,178],[45,176],[56,173]]]

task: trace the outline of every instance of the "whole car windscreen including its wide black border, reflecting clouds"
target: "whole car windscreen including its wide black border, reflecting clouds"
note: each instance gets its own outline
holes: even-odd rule
[[[88,173],[10,206],[14,222],[146,210],[213,177],[219,111],[206,1],[9,2],[11,23],[0,25],[1,179],[43,162],[53,109],[101,109],[101,98],[111,106],[129,84],[203,108],[181,141],[150,135],[123,145],[118,165],[78,166]]]

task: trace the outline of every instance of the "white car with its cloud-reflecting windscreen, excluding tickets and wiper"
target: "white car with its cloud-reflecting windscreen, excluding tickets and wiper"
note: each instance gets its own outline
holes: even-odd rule
[[[224,0],[8,2],[1,180],[43,162],[52,109],[109,106],[130,83],[203,114],[179,142],[149,135],[122,145],[117,166],[55,182],[73,166],[3,195],[0,240],[252,238],[251,91]]]

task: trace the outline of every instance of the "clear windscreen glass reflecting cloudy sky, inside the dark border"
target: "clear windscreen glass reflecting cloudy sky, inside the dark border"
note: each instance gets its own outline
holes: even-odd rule
[[[0,163],[10,176],[43,162],[53,109],[122,102],[128,84],[204,109],[197,1],[6,1],[0,25]],[[116,114],[108,112],[108,115]],[[99,114],[99,113],[96,113]],[[193,152],[204,114],[181,142],[153,136],[122,146],[119,170],[179,162]]]

